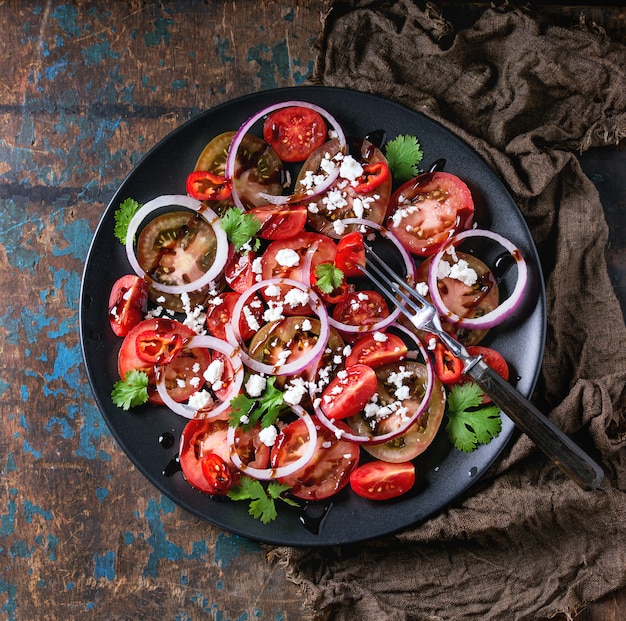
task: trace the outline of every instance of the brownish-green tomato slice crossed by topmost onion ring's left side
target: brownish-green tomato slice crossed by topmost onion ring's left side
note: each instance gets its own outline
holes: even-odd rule
[[[202,150],[194,170],[223,176],[234,135],[234,131],[228,131],[213,138]],[[246,134],[237,151],[234,183],[244,205],[264,205],[267,201],[259,196],[260,193],[278,196],[283,192],[283,164],[264,140]],[[212,203],[211,207],[221,215],[232,205],[232,199],[226,198]]]

